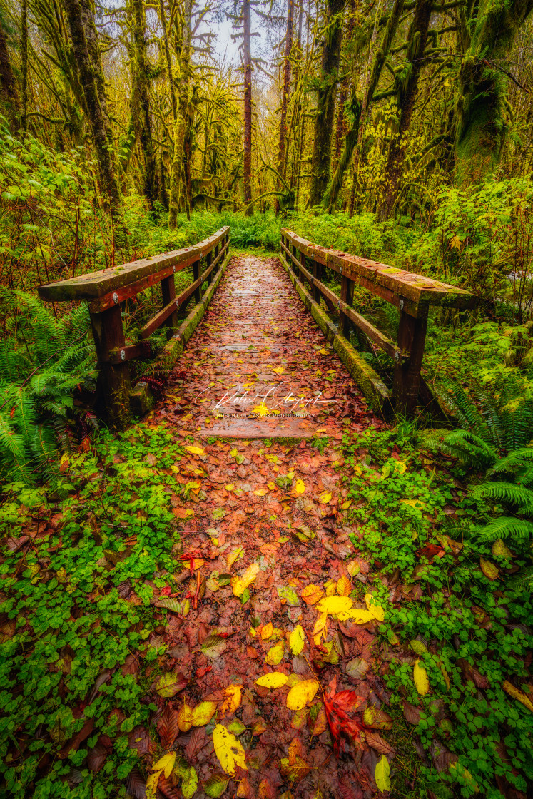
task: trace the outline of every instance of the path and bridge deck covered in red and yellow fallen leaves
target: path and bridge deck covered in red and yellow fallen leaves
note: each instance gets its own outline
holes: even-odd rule
[[[177,775],[185,797],[376,795],[382,610],[344,523],[340,443],[381,423],[276,258],[233,258],[150,423],[188,452],[172,496],[183,590],[156,590],[168,625],[149,641],[167,647],[158,756],[176,760],[166,779],[153,753],[153,781],[168,797]]]

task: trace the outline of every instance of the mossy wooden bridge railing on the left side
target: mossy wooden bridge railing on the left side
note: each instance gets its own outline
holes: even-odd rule
[[[168,338],[180,339],[186,332],[190,335],[190,324],[182,324],[183,331],[179,328],[173,332],[178,315],[185,311],[192,296],[196,304],[201,303],[201,287],[205,280],[208,282],[206,294],[213,278],[217,284],[228,253],[229,227],[225,227],[192,247],[39,286],[38,293],[43,300],[87,300],[89,303],[105,409],[113,424],[123,426],[129,418],[132,393],[129,361],[149,355],[146,339],[161,326],[169,328]],[[174,276],[188,266],[193,268],[193,282],[176,295]],[[139,340],[126,344],[121,304],[158,283],[161,284],[161,309],[141,328]],[[194,309],[189,316],[194,316]]]

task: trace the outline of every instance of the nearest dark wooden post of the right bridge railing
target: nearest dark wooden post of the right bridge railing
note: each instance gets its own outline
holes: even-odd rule
[[[409,352],[410,357],[394,368],[393,391],[396,413],[412,415],[418,401],[420,368],[424,358],[424,344],[428,328],[428,307],[422,306],[418,316],[404,311],[404,300],[400,299],[400,325],[398,346]]]

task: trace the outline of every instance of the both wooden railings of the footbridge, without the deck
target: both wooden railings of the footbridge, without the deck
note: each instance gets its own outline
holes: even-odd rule
[[[229,240],[225,227],[192,247],[38,288],[43,300],[88,302],[101,391],[113,426],[124,427],[131,415],[143,415],[149,407],[149,385],[141,380],[132,387],[129,364],[153,356],[148,339],[163,326],[168,341],[157,357],[165,364],[177,360],[231,263]],[[287,229],[281,230],[280,260],[300,299],[373,407],[384,415],[392,411],[412,415],[418,403],[438,410],[420,374],[428,310],[432,305],[472,308],[473,295],[426,276],[311,244]],[[185,268],[192,268],[192,281],[177,294],[175,276]],[[328,272],[340,276],[340,295],[325,284]],[[146,289],[153,293],[157,284],[161,284],[161,308],[136,332],[136,340],[126,340],[122,317],[128,304]],[[353,307],[356,284],[398,309],[396,341]],[[352,328],[392,358],[392,391],[352,346]]]

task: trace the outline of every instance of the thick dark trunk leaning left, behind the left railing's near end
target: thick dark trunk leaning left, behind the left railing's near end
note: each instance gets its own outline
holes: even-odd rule
[[[63,0],[63,2],[65,3],[70,38],[72,39],[80,83],[86,102],[89,126],[93,135],[94,149],[100,169],[102,187],[107,197],[109,197],[111,207],[113,209],[118,209],[121,203],[120,189],[118,188],[115,174],[112,151],[109,148],[109,137],[105,127],[105,117],[102,113],[98,97],[97,81],[94,75],[95,70],[89,55],[89,47],[87,46],[86,32],[82,22],[82,8],[79,0]]]

